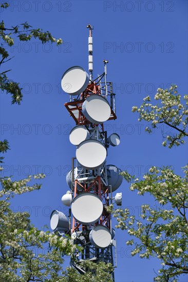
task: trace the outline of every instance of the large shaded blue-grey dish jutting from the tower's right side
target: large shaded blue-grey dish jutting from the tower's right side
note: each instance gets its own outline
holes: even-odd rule
[[[121,170],[113,165],[107,165],[107,179],[108,179],[108,186],[111,185],[111,191],[116,191],[123,181],[123,176],[119,175]],[[110,187],[108,188],[108,191],[110,192]]]

